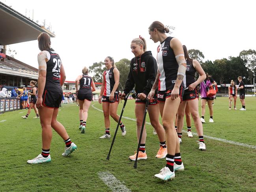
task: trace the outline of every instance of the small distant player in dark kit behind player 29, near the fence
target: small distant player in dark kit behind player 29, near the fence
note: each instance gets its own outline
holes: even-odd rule
[[[32,88],[31,88],[31,92],[28,92],[28,95],[30,95],[31,100],[30,100],[30,104],[28,107],[28,113],[26,114],[26,116],[21,116],[24,119],[28,119],[28,116],[29,116],[32,108],[35,110],[35,113],[36,113],[36,117],[33,117],[33,118],[34,119],[39,118],[38,110],[36,108],[36,101],[37,101],[37,98],[36,98],[37,88],[35,86],[36,84],[37,84],[36,81],[30,81],[30,86]],[[27,104],[27,103],[25,103],[25,104]]]

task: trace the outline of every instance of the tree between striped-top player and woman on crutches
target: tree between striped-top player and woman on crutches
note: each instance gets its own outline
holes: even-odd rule
[[[116,67],[118,68],[119,72],[120,72],[120,79],[119,79],[119,86],[120,89],[124,89],[125,86],[125,82],[127,80],[127,76],[129,74],[129,70],[130,70],[130,63],[131,60],[128,59],[121,59],[119,62],[116,62]]]

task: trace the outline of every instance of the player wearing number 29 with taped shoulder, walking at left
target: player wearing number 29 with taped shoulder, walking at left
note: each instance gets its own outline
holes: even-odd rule
[[[36,106],[39,108],[42,127],[42,153],[32,160],[28,160],[29,164],[51,161],[52,128],[65,142],[66,147],[62,156],[68,156],[77,149],[77,145],[69,139],[64,126],[56,119],[62,100],[62,85],[66,78],[62,61],[60,56],[50,47],[50,36],[47,33],[41,33],[37,39],[41,52],[37,55],[39,69]]]

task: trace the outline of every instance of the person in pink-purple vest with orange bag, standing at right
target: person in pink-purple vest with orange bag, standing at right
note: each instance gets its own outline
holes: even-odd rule
[[[208,107],[209,107],[209,111],[210,111],[210,119],[209,119],[209,123],[213,123],[213,100],[214,97],[207,97],[207,91],[209,90],[210,87],[215,88],[215,86],[217,86],[217,83],[215,82],[215,80],[213,80],[213,78],[211,78],[210,75],[208,75],[208,73],[206,73],[206,79],[200,83],[200,91],[201,91],[201,112],[202,112],[202,117],[201,117],[201,121],[202,123],[205,123],[206,121],[204,120],[204,114],[206,113],[206,102],[208,103]]]

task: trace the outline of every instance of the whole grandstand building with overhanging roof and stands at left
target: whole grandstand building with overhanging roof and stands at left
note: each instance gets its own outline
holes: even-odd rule
[[[37,24],[2,2],[0,2],[0,18],[0,88],[7,88],[7,96],[10,96],[10,91],[15,86],[19,88],[25,86],[31,89],[29,82],[30,80],[37,81],[38,69],[7,56],[7,45],[37,40],[42,32],[46,32],[50,37],[55,37],[55,35],[45,26]],[[19,109],[19,99],[1,99],[0,106],[0,112]]]

